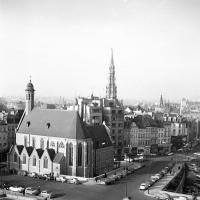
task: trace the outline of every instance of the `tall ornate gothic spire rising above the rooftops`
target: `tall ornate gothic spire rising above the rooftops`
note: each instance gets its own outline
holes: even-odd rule
[[[108,85],[106,87],[106,98],[108,99],[117,98],[117,86],[115,84],[115,65],[114,65],[112,49],[111,49],[111,62],[110,62],[110,67],[109,67]]]

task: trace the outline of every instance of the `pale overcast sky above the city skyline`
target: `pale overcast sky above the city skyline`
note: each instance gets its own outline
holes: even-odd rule
[[[0,0],[0,96],[200,97],[199,0]]]

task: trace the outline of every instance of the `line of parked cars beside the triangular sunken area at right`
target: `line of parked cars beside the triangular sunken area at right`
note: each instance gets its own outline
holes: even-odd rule
[[[163,168],[160,172],[158,172],[155,175],[152,175],[150,179],[144,183],[142,183],[139,187],[140,190],[147,190],[149,187],[151,187],[154,183],[156,183],[158,180],[160,180],[165,174],[167,174],[171,170],[172,166],[167,166]]]

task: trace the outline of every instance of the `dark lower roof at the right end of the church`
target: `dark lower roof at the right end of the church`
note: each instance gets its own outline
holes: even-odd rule
[[[86,126],[86,129],[88,130],[88,136],[94,142],[95,149],[112,146],[112,142],[104,125]]]

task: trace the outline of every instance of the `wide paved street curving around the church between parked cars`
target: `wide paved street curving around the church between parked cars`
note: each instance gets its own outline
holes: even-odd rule
[[[73,185],[23,176],[3,176],[3,181],[7,181],[13,185],[25,185],[26,187],[40,186],[41,189],[49,189],[56,194],[56,199],[58,200],[121,200],[125,196],[127,182],[128,196],[132,197],[133,200],[148,200],[152,198],[145,196],[142,191],[139,191],[140,184],[168,164],[169,161],[163,160],[147,161],[144,168],[121,179],[121,181],[116,182],[114,185]]]

